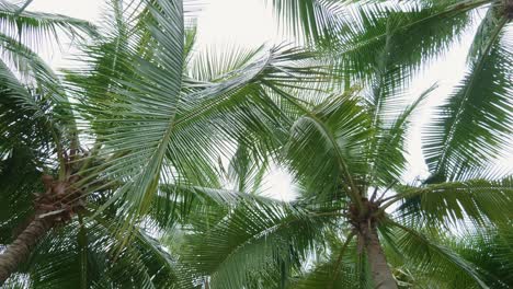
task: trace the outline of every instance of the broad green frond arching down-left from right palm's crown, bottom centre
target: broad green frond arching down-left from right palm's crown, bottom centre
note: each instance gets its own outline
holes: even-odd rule
[[[253,278],[272,280],[280,266],[285,266],[282,279],[287,278],[331,220],[329,212],[243,201],[219,222],[186,235],[182,261],[219,288],[241,288]]]

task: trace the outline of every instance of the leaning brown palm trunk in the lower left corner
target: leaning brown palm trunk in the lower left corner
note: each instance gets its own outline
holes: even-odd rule
[[[35,244],[54,227],[53,218],[37,217],[18,235],[5,252],[0,255],[0,286],[26,261]]]

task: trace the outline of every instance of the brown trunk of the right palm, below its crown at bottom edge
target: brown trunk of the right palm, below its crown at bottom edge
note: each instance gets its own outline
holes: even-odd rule
[[[376,228],[363,224],[364,242],[375,288],[397,289],[397,282],[383,253]]]

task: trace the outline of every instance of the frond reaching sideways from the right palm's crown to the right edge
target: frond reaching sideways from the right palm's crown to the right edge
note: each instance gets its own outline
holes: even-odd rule
[[[399,194],[385,204],[402,201],[402,216],[418,218],[420,226],[445,227],[465,224],[471,220],[478,226],[500,223],[511,219],[509,209],[513,203],[511,177],[500,181],[470,180],[442,183],[421,188],[398,188]]]

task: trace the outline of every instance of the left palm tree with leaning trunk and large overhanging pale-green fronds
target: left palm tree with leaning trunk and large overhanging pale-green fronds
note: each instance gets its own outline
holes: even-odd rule
[[[289,86],[289,76],[315,80],[315,69],[294,63],[310,54],[286,48],[239,50],[207,67],[180,1],[112,1],[112,11],[105,34],[83,45],[88,65],[67,71],[65,84],[45,78],[52,85],[29,90],[8,79],[16,101],[8,104],[20,107],[2,112],[16,119],[2,135],[2,180],[13,184],[2,193],[2,230],[20,229],[2,240],[11,244],[0,255],[1,282],[19,270],[29,275],[10,282],[183,288],[173,285],[172,257],[141,231],[153,203],[163,204],[163,220],[173,204],[189,206],[162,201],[161,187],[216,186],[216,155],[236,140],[276,147],[267,131],[281,126],[280,111],[267,86]]]

